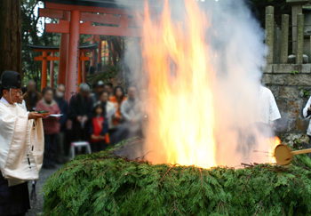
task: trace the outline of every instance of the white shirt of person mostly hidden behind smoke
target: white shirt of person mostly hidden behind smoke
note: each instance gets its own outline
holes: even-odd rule
[[[280,111],[277,108],[273,93],[264,86],[260,86],[258,102],[257,122],[272,124],[276,119],[281,118]]]

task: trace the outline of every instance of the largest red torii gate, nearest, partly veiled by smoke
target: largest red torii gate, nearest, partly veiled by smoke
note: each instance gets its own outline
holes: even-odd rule
[[[128,3],[143,6],[143,1]],[[44,9],[39,10],[40,17],[60,19],[59,23],[45,24],[45,31],[61,33],[60,69],[66,64],[66,98],[77,91],[78,84],[78,44],[80,34],[104,36],[140,36],[140,26],[133,19],[135,11],[119,8],[114,0],[44,0]],[[155,4],[155,1],[154,1]],[[100,14],[101,13],[101,14]],[[82,21],[82,22],[81,22]],[[92,26],[92,22],[109,26]],[[67,50],[65,52],[65,50]],[[66,62],[66,63],[64,63]],[[65,74],[65,73],[62,73]],[[61,78],[61,77],[60,77]]]

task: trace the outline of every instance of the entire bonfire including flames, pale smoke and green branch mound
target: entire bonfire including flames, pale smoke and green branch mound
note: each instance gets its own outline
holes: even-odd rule
[[[287,166],[275,164],[274,149],[280,140],[251,126],[256,122],[253,99],[259,82],[250,71],[259,74],[264,60],[264,52],[261,57],[256,53],[264,47],[253,30],[258,25],[248,23],[243,33],[236,33],[227,17],[213,20],[211,14],[218,14],[224,3],[211,2],[214,7],[204,11],[200,1],[185,0],[180,20],[171,14],[167,0],[155,17],[146,5],[141,34],[148,76],[146,139],[125,141],[65,164],[44,186],[45,214],[311,213],[308,157],[295,156]],[[228,5],[234,11],[243,1],[232,2]],[[232,14],[232,18],[247,12]],[[241,20],[239,26],[248,21]],[[232,30],[227,35],[228,50],[221,43],[211,43],[226,32],[221,25]],[[254,40],[247,44],[251,52],[245,48],[223,57],[225,63],[220,64],[219,53],[227,54],[222,49],[235,50],[231,36],[241,42],[248,31],[252,35],[247,40]],[[118,154],[120,148],[141,142],[144,152],[136,159]]]

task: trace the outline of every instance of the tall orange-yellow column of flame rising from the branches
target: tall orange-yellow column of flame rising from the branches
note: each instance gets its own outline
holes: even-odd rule
[[[209,168],[217,165],[215,77],[209,44],[204,42],[211,23],[194,1],[185,1],[185,6],[187,17],[182,23],[171,20],[167,0],[159,20],[150,18],[148,7],[145,10],[142,42],[152,111],[148,160]]]

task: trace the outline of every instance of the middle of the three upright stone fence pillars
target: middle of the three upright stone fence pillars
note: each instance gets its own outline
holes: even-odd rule
[[[290,16],[288,14],[282,15],[281,27],[281,63],[287,63],[288,57],[288,34],[289,34]]]

